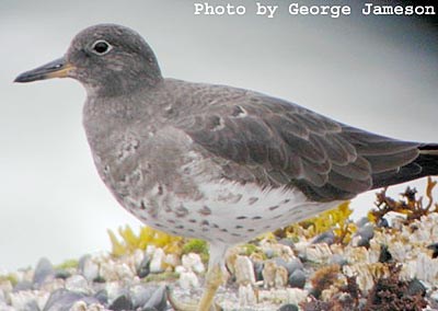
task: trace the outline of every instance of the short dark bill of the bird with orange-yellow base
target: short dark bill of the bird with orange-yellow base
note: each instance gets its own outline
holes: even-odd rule
[[[21,73],[14,82],[32,82],[51,78],[66,78],[74,67],[65,57]]]

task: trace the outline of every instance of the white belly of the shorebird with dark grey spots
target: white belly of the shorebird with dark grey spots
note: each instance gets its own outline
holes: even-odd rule
[[[199,185],[198,199],[160,188],[128,209],[146,224],[175,235],[237,244],[336,207],[312,203],[298,189],[240,185],[226,180]]]

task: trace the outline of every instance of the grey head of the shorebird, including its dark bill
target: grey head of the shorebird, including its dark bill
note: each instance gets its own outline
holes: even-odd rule
[[[89,92],[105,95],[153,87],[162,80],[157,58],[143,38],[115,24],[83,30],[64,57],[21,73],[15,82],[50,78],[73,78]]]

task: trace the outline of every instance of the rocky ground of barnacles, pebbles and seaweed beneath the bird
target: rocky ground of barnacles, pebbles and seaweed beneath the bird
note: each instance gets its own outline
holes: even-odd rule
[[[341,242],[339,230],[310,238],[312,228],[299,227],[293,237],[277,232],[237,246],[228,254],[230,277],[217,302],[223,310],[254,311],[438,310],[438,212],[423,214],[387,220],[387,210],[377,222],[354,223],[349,239],[341,230]],[[175,245],[184,241],[173,239]],[[182,252],[170,242],[129,250],[113,242],[113,253],[58,266],[43,257],[34,268],[1,275],[0,310],[164,311],[200,297],[203,244]]]

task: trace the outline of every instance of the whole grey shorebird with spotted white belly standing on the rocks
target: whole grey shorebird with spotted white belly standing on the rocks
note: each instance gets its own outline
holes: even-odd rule
[[[357,194],[438,174],[438,145],[401,141],[257,92],[163,78],[142,37],[101,24],[16,82],[73,78],[102,180],[155,229],[209,242],[208,310],[226,251]]]

